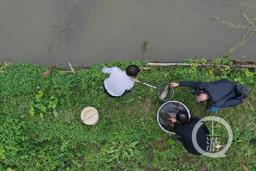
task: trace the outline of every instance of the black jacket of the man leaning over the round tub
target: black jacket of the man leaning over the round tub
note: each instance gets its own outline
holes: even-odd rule
[[[184,125],[178,124],[177,122],[174,123],[174,131],[177,135],[181,136],[180,138],[181,143],[189,153],[192,153],[195,155],[202,155],[196,150],[192,142],[193,128],[195,127],[197,122],[199,122],[200,120],[201,119],[197,117],[197,118],[190,118],[189,122]],[[196,134],[197,143],[199,147],[205,152],[208,152],[210,150],[211,140],[209,138],[209,134],[210,134],[209,130],[204,125],[204,123],[199,127]]]

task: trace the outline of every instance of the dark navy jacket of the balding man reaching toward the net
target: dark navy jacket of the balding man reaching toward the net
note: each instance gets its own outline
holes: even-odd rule
[[[242,100],[235,99],[237,97],[236,85],[227,79],[221,79],[215,82],[204,83],[204,82],[196,82],[196,81],[183,81],[179,84],[182,87],[191,87],[195,89],[199,89],[202,91],[206,91],[210,94],[210,101],[215,102],[229,92],[232,93],[223,100],[214,103],[214,105],[218,108],[226,108],[236,106],[242,103]]]

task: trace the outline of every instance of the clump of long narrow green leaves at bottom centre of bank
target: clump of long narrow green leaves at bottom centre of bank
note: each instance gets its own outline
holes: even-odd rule
[[[139,156],[140,151],[137,150],[136,145],[139,143],[139,141],[134,141],[131,143],[124,143],[124,142],[112,142],[112,146],[109,148],[108,153],[110,154],[108,156],[109,161],[112,161],[114,159],[118,160],[120,157],[120,154],[122,154],[122,158],[130,159],[133,156]]]

